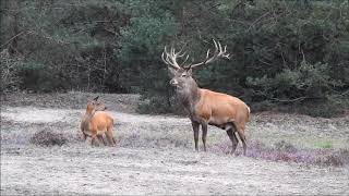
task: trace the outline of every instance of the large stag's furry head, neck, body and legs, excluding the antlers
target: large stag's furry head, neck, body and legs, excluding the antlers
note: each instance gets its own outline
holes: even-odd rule
[[[186,73],[183,74],[184,72]],[[179,70],[170,84],[177,87],[177,95],[190,114],[194,131],[195,150],[198,150],[200,125],[203,131],[202,140],[205,151],[207,125],[214,125],[226,130],[232,143],[231,154],[234,152],[238,145],[238,138],[234,134],[237,132],[245,155],[246,140],[244,130],[245,123],[250,119],[250,108],[242,100],[230,95],[198,88],[189,71]]]

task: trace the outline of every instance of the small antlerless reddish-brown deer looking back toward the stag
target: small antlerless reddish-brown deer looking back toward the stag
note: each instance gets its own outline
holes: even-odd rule
[[[104,103],[98,102],[98,97],[99,96],[88,101],[86,112],[81,121],[81,131],[83,132],[85,140],[87,136],[92,138],[92,145],[98,139],[107,145],[103,137],[103,135],[106,134],[109,144],[115,146],[116,139],[113,138],[112,133],[113,119],[107,112],[103,111],[106,110],[107,107]]]

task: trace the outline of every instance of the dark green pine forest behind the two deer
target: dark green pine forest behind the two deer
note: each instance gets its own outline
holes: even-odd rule
[[[161,61],[212,39],[229,61],[194,70],[203,88],[253,111],[337,117],[349,106],[349,0],[3,0],[1,94],[141,94],[141,112],[179,112]]]

